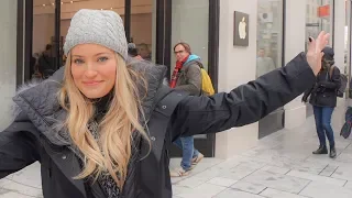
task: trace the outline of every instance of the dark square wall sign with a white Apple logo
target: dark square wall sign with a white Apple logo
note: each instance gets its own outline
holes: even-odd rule
[[[250,15],[234,11],[233,14],[233,45],[249,46]]]

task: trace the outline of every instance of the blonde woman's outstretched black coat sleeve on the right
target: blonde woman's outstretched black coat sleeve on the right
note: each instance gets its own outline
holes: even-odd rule
[[[292,101],[315,82],[304,53],[285,67],[273,70],[229,94],[187,97],[172,118],[173,139],[215,133],[258,121]]]

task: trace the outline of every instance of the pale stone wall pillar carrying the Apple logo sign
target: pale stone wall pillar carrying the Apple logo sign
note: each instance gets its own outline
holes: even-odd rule
[[[219,91],[230,91],[234,87],[255,78],[256,73],[256,0],[220,1],[220,46],[219,46]],[[250,14],[248,47],[233,46],[233,11]],[[253,146],[258,136],[258,124],[235,128],[216,138],[216,157],[227,158]]]

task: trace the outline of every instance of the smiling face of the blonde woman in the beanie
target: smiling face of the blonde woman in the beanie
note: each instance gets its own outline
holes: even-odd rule
[[[70,72],[75,85],[89,99],[108,95],[116,85],[116,53],[96,44],[80,44],[72,52]]]

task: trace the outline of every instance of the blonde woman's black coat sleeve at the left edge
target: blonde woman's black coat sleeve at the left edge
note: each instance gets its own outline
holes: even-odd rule
[[[40,160],[34,130],[31,122],[13,122],[0,132],[0,178]]]

